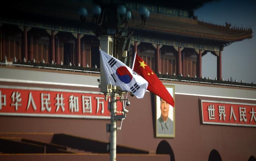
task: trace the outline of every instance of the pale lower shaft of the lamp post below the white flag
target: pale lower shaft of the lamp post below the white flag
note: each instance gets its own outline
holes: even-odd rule
[[[116,86],[112,86],[112,107],[110,116],[110,161],[116,161]]]

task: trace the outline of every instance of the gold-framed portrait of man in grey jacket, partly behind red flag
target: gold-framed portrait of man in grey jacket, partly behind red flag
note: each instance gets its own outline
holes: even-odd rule
[[[174,86],[165,85],[165,87],[168,90],[168,92],[171,94],[175,102]],[[158,121],[158,119],[161,116],[160,102],[161,102],[160,97],[155,95],[155,137],[167,137],[167,138],[175,137],[175,108],[169,105],[168,118],[171,119],[171,122],[168,121],[169,122],[168,127],[170,128],[171,132],[164,133],[163,131],[161,131],[160,128],[162,128],[162,125],[165,125],[165,124],[161,125],[160,121]]]

